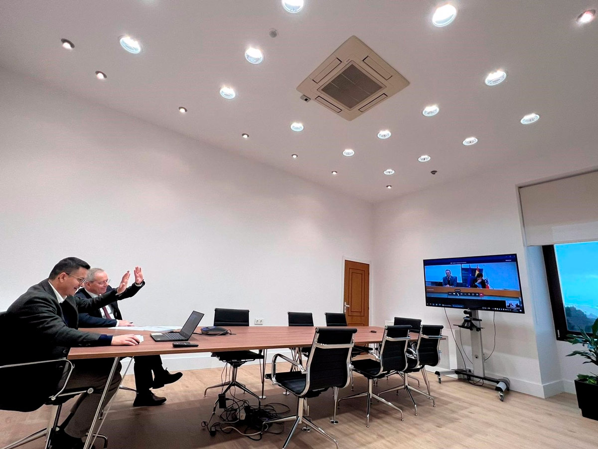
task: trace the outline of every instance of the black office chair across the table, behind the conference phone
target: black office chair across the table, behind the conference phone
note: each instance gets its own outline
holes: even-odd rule
[[[249,310],[216,308],[214,310],[214,326],[249,326]],[[249,390],[244,384],[237,381],[237,369],[239,369],[239,366],[243,365],[243,363],[263,359],[263,354],[254,353],[254,351],[226,351],[212,353],[212,357],[216,357],[221,362],[228,363],[228,365],[233,367],[233,372],[231,373],[230,381],[226,381],[218,385],[212,385],[211,387],[206,388],[203,392],[204,398],[208,394],[208,390],[212,388],[226,387],[222,392],[226,394],[228,390],[230,390],[231,388],[239,387],[239,389],[254,396],[258,400],[258,403],[260,403],[260,396],[256,395],[254,392]],[[216,401],[216,404],[218,404],[218,401]]]

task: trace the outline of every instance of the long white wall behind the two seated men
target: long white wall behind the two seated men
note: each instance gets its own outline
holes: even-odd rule
[[[215,307],[323,324],[343,257],[372,259],[366,202],[11,72],[0,105],[0,310],[77,256],[112,284],[142,266],[147,286],[121,303],[140,325],[193,309],[211,324]]]

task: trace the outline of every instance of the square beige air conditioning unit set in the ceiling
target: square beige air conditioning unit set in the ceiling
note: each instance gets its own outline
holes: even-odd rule
[[[408,85],[388,62],[352,36],[297,90],[343,119],[353,120]]]

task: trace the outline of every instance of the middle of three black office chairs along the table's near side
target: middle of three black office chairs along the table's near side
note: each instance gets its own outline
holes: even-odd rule
[[[357,393],[356,395],[345,396],[338,400],[367,397],[367,412],[365,415],[365,426],[370,427],[370,405],[371,399],[377,399],[383,404],[401,412],[401,421],[403,420],[403,411],[396,405],[380,398],[372,392],[374,380],[388,377],[391,374],[404,372],[407,369],[407,344],[410,340],[409,331],[411,327],[405,326],[385,326],[382,334],[382,344],[380,345],[380,356],[372,354],[375,359],[353,360],[353,371],[358,372],[368,380],[367,392]]]

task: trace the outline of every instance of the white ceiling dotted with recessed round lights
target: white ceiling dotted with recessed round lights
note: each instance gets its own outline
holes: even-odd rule
[[[0,66],[371,202],[596,147],[598,20],[575,22],[596,0],[451,0],[457,18],[437,28],[431,16],[443,3],[306,0],[289,14],[279,0],[0,0]],[[125,34],[142,53],[120,47]],[[347,122],[295,88],[351,35],[411,84]],[[260,65],[243,57],[249,45],[264,51]],[[497,68],[507,80],[486,86]],[[221,98],[223,85],[237,98]],[[422,116],[429,104],[437,116]],[[532,112],[539,122],[521,125]],[[303,132],[291,131],[294,121]],[[478,144],[463,146],[471,135]],[[417,162],[421,154],[432,160]]]

